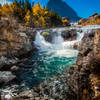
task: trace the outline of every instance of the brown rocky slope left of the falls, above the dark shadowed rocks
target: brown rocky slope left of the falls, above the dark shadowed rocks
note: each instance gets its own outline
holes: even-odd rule
[[[0,56],[20,56],[32,50],[32,41],[23,28],[14,27],[7,20],[0,21]]]

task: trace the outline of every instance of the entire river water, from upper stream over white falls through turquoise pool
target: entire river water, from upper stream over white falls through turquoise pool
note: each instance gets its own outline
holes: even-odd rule
[[[34,44],[38,51],[30,59],[34,62],[32,65],[33,67],[31,67],[29,71],[24,72],[21,78],[27,76],[26,79],[24,78],[24,82],[32,86],[40,83],[42,80],[47,80],[51,76],[64,72],[66,67],[76,62],[78,50],[73,48],[74,44],[81,41],[84,34],[98,27],[100,26],[69,28],[69,30],[77,30],[77,38],[73,41],[64,41],[61,36],[62,31],[68,30],[68,28],[50,29],[52,32],[56,33],[52,35],[51,42],[46,41],[45,37],[42,35],[43,31],[49,32],[50,30],[37,31]]]

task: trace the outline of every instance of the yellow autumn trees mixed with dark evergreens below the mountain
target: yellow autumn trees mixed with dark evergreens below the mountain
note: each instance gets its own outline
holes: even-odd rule
[[[61,18],[57,13],[42,7],[40,3],[31,4],[28,0],[15,0],[11,4],[0,5],[0,18],[16,19],[30,27],[68,26],[69,19]]]

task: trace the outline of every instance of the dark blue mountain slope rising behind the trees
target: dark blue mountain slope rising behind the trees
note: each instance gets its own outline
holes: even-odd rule
[[[62,0],[49,0],[47,7],[49,10],[58,13],[61,17],[68,17],[71,21],[80,19],[77,13]]]

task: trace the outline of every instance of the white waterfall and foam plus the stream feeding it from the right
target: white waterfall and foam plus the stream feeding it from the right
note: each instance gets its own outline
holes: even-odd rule
[[[39,49],[39,51],[47,51],[50,54],[55,54],[58,56],[77,56],[78,51],[73,49],[73,46],[76,42],[82,40],[86,33],[89,33],[92,29],[100,28],[100,25],[91,25],[91,26],[84,26],[81,28],[70,27],[70,29],[77,30],[77,37],[76,40],[73,41],[64,41],[63,37],[61,36],[62,31],[66,30],[66,28],[58,28],[52,29],[52,32],[56,32],[57,34],[54,35],[52,43],[49,43],[45,40],[44,36],[42,36],[41,32],[37,31],[37,35],[35,38],[35,45]],[[67,28],[68,30],[68,28]],[[44,30],[45,31],[45,30]]]

